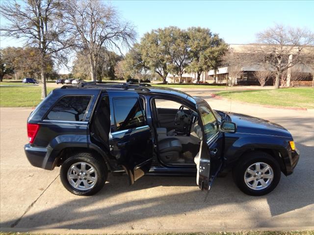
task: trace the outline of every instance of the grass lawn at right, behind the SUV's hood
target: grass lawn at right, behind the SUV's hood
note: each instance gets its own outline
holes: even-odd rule
[[[247,103],[314,109],[314,88],[221,91],[215,94]]]

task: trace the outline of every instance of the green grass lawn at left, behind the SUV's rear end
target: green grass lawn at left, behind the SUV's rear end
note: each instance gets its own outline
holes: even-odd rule
[[[49,94],[53,88],[47,88]],[[0,107],[34,107],[41,101],[41,87],[0,87]]]

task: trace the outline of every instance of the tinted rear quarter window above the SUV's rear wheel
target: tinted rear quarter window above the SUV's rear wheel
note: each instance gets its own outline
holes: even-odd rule
[[[91,98],[90,95],[65,96],[55,103],[46,119],[83,121]]]

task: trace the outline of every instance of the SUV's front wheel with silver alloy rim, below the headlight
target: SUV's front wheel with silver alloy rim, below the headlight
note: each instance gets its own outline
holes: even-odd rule
[[[262,196],[274,190],[281,177],[278,162],[264,152],[243,156],[233,170],[235,184],[248,195]]]

